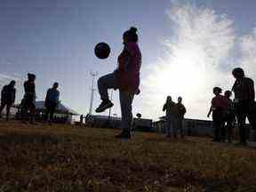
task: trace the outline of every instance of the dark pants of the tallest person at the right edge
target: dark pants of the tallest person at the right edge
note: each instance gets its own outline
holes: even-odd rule
[[[248,100],[243,100],[236,103],[236,119],[239,129],[239,137],[242,143],[246,142],[246,117],[248,118],[252,128],[255,129],[255,119],[252,111],[252,102]]]

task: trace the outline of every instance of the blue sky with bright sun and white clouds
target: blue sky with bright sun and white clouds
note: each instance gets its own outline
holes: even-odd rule
[[[256,62],[252,57],[256,53],[254,0],[246,4],[238,0],[0,2],[0,84],[20,80],[17,102],[27,73],[34,72],[37,100],[43,100],[46,90],[58,81],[61,101],[86,114],[90,71],[102,76],[116,68],[122,35],[131,26],[139,29],[143,59],[141,94],[134,100],[133,112],[144,117],[163,115],[161,106],[171,94],[173,100],[184,97],[187,117],[204,118],[212,87],[228,89],[233,67],[251,71]],[[108,60],[93,53],[94,45],[102,41],[111,47]],[[114,100],[113,113],[119,115],[117,92]],[[99,102],[96,92],[94,108]]]

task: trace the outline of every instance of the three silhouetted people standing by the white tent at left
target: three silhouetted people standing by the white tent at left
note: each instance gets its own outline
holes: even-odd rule
[[[6,107],[6,121],[9,120],[10,108],[15,102],[16,89],[15,81],[11,81],[10,84],[4,85],[1,92],[1,107],[0,118],[2,117],[3,109]],[[58,83],[54,83],[52,88],[48,89],[44,100],[45,121],[51,124],[53,120],[53,114],[55,109],[59,105],[60,92],[58,91]],[[28,73],[28,80],[24,83],[24,96],[20,103],[21,119],[25,123],[29,119],[30,124],[35,124],[36,114],[36,75]],[[50,115],[50,117],[49,117]]]

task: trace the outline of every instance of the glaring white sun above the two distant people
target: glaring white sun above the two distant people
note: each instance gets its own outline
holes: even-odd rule
[[[156,91],[173,98],[195,95],[204,84],[204,68],[195,55],[195,51],[180,49],[168,60],[159,60],[155,72]]]

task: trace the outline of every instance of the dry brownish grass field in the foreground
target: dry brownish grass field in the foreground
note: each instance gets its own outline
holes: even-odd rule
[[[256,191],[256,150],[71,125],[0,122],[0,191]]]

